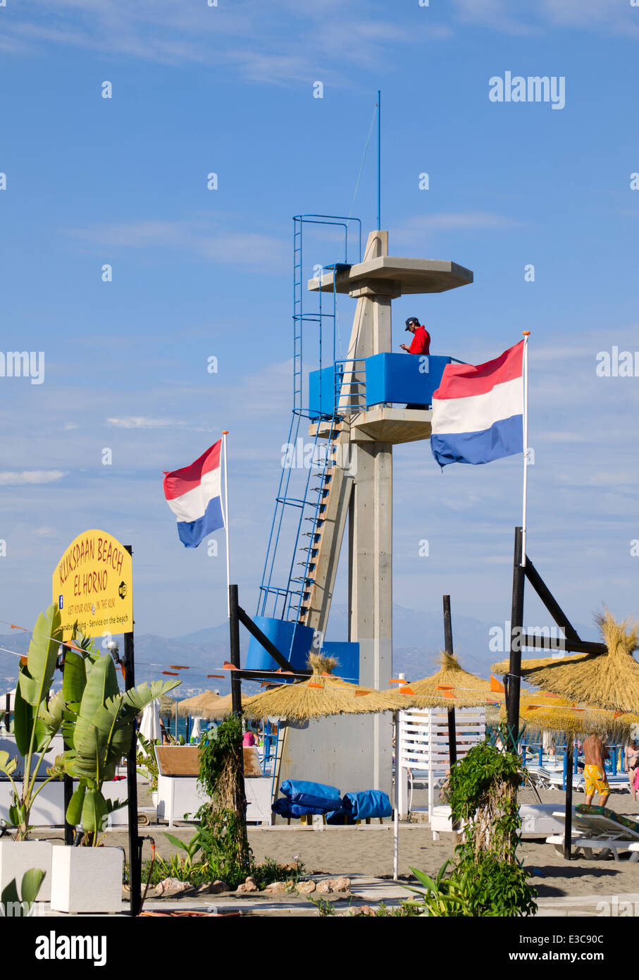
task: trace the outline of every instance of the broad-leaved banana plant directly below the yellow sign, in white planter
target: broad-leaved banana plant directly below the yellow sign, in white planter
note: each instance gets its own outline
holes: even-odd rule
[[[79,640],[79,649],[68,650],[62,724],[68,749],[60,767],[79,785],[68,804],[67,820],[73,825],[81,823],[94,846],[109,814],[126,804],[125,800],[106,800],[102,787],[105,780],[114,778],[116,766],[133,744],[136,716],[179,683],[153,681],[122,693],[109,654],[101,655],[84,637]]]

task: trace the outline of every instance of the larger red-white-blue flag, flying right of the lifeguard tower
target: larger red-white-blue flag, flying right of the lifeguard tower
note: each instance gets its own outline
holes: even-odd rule
[[[433,395],[431,449],[439,466],[490,463],[524,452],[521,340],[484,365],[446,365]]]

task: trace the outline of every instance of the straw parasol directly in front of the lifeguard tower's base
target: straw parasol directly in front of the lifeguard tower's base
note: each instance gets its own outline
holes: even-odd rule
[[[311,654],[312,674],[295,684],[283,684],[249,699],[245,711],[251,718],[273,717],[306,721],[331,714],[372,714],[397,711],[403,700],[395,691],[373,691],[334,676],[337,661]]]

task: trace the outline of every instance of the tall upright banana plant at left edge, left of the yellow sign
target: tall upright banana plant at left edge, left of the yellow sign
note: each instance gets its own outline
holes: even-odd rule
[[[61,642],[60,611],[52,603],[44,613],[39,614],[35,622],[28,654],[21,659],[18,675],[14,733],[18,751],[24,757],[22,787],[14,780],[18,760],[10,759],[7,752],[0,753],[0,772],[12,784],[13,800],[9,817],[12,825],[17,828],[16,838],[19,841],[28,837],[31,829],[29,815],[38,793],[52,779],[60,778],[54,767],[47,770],[48,778],[36,786],[40,764],[63,723],[62,693],[55,695],[47,706]]]

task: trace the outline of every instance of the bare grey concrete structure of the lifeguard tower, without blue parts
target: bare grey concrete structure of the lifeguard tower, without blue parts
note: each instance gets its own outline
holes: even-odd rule
[[[336,288],[357,299],[346,361],[391,351],[391,301],[405,294],[440,293],[473,282],[453,262],[388,256],[388,231],[368,236],[361,263],[336,273]],[[311,291],[334,288],[333,273],[310,279]],[[409,355],[406,355],[407,357]],[[348,527],[348,639],[359,643],[360,684],[388,688],[392,677],[392,446],[431,437],[432,412],[376,406],[352,411],[360,388],[357,365],[343,375],[343,420],[333,430],[335,460],[327,482],[309,598],[301,621],[324,635],[333,599],[343,536]],[[346,412],[347,409],[347,412]],[[331,435],[331,424],[310,426]],[[290,724],[280,781],[312,779],[342,793],[390,793],[390,715],[339,715]]]

